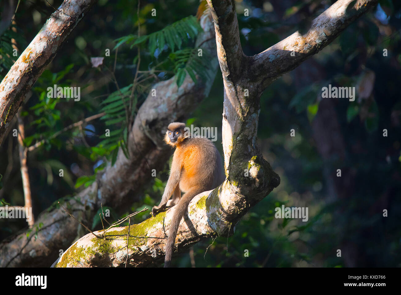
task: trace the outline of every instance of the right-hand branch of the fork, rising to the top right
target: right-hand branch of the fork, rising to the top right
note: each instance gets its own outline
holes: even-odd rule
[[[250,81],[259,84],[261,91],[284,73],[298,67],[302,61],[330,44],[344,29],[377,4],[377,0],[338,0],[315,18],[308,32],[299,31],[249,57]],[[291,56],[294,52],[295,55]]]

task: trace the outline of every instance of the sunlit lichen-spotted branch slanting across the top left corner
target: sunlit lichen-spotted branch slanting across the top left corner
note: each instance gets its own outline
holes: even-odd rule
[[[26,93],[96,2],[97,0],[64,1],[8,71],[0,83],[0,145]]]

